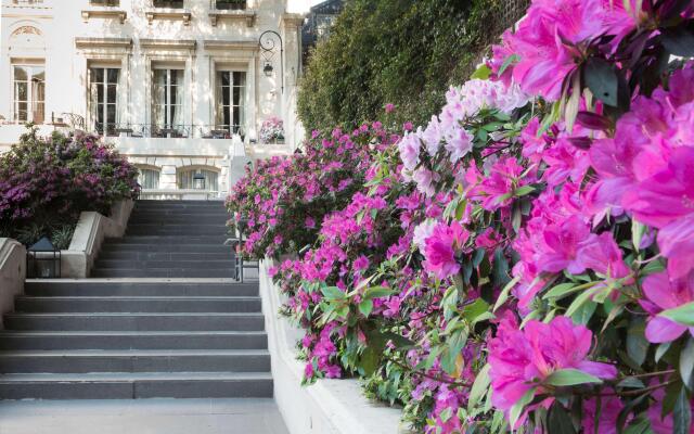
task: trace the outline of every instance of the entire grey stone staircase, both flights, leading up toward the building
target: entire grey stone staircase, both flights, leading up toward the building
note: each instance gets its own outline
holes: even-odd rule
[[[0,399],[271,397],[257,283],[231,280],[219,202],[140,201],[91,279],[28,281]]]

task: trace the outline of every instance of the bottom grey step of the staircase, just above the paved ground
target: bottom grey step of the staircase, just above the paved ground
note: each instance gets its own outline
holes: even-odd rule
[[[171,372],[0,375],[0,399],[272,397],[268,372]]]

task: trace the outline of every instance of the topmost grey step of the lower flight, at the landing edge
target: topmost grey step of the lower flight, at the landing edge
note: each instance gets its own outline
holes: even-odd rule
[[[179,279],[78,279],[29,280],[25,294],[31,296],[257,296],[257,283],[236,283],[231,279],[213,282]]]

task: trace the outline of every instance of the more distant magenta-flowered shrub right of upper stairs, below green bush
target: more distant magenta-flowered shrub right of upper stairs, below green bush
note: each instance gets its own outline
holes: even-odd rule
[[[361,188],[372,149],[394,143],[381,124],[362,125],[352,133],[335,129],[313,133],[301,153],[258,161],[246,168],[227,200],[243,229],[244,253],[262,257],[296,253],[316,239],[323,216],[345,206]]]

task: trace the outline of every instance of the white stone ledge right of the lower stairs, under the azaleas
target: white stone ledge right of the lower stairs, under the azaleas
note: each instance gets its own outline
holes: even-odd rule
[[[260,297],[272,363],[274,399],[292,434],[404,434],[401,411],[367,399],[357,380],[318,380],[301,386],[296,359],[300,330],[280,318],[279,289],[268,276],[272,260],[260,261]]]

